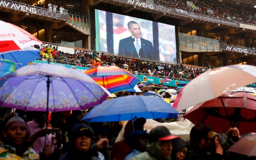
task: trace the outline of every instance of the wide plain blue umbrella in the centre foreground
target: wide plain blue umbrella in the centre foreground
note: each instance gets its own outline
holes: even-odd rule
[[[134,105],[136,103],[136,105]],[[87,122],[126,121],[135,117],[174,118],[178,112],[164,100],[149,96],[124,96],[105,100],[90,110],[82,120]]]

